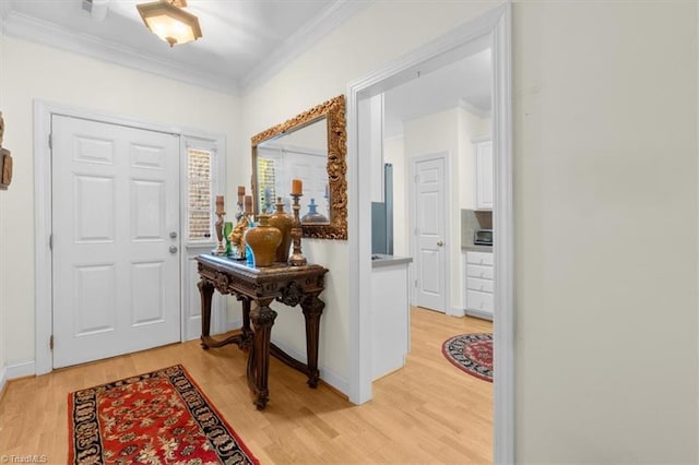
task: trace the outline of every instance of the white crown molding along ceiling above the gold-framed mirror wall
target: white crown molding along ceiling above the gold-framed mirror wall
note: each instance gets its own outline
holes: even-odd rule
[[[371,4],[374,0],[337,0],[321,14],[288,37],[274,52],[238,82],[242,95],[272,79],[342,23]]]

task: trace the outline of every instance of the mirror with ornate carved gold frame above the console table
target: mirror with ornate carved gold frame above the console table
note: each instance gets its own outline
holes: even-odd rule
[[[340,95],[252,136],[254,214],[273,213],[281,198],[292,213],[292,180],[304,186],[304,237],[347,239],[347,130]]]

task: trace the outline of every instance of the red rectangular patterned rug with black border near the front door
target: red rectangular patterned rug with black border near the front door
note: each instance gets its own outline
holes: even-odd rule
[[[259,464],[181,366],[68,395],[70,464]]]

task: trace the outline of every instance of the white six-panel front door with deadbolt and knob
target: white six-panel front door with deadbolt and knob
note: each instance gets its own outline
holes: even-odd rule
[[[54,368],[180,341],[179,140],[52,116]]]

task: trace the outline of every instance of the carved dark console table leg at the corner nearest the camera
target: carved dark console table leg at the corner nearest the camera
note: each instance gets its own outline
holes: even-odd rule
[[[248,386],[254,394],[254,405],[261,410],[269,398],[268,375],[270,372],[270,336],[276,312],[270,308],[272,298],[260,299],[250,310],[254,325],[254,345],[248,357]]]

